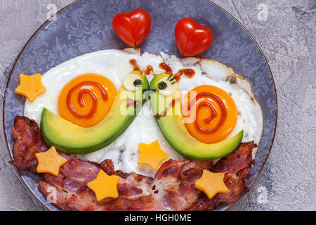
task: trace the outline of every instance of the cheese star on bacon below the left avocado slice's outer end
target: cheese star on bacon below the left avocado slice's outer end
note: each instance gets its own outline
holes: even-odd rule
[[[59,169],[67,162],[67,159],[60,156],[55,147],[51,147],[45,153],[36,153],[38,173],[49,173],[58,176]]]

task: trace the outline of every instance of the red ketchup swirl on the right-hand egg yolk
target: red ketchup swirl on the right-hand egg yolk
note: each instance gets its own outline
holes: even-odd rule
[[[209,98],[211,100],[213,100],[215,103],[217,103],[220,107],[220,111],[221,111],[221,117],[220,117],[220,121],[218,122],[218,124],[216,124],[215,127],[212,127],[211,129],[205,129],[204,127],[200,126],[197,122],[197,119],[199,117],[199,111],[203,108],[203,107],[207,107],[211,110],[211,116],[208,117],[208,118],[205,118],[203,121],[206,123],[206,124],[209,124],[211,123],[213,120],[216,119],[217,117],[217,112],[216,112],[216,109],[214,108],[214,106],[209,103],[209,102],[202,102],[202,103],[199,103],[199,105],[197,105],[197,118],[195,120],[195,127],[203,132],[203,133],[213,133],[213,132],[216,132],[218,131],[218,129],[220,129],[221,127],[223,127],[223,124],[225,124],[225,120],[227,118],[227,109],[225,108],[225,105],[223,103],[223,101],[218,98],[218,96],[214,95],[214,94],[211,94],[211,93],[208,93],[208,92],[202,92],[202,93],[199,93],[197,94],[197,96],[195,96],[195,100],[193,100],[190,105],[187,106],[187,110],[191,110],[191,106],[193,104],[195,104],[197,101],[199,101],[199,99],[201,98]]]

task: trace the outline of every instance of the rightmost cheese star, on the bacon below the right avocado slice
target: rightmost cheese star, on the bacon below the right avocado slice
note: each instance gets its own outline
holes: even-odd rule
[[[217,193],[227,193],[228,188],[224,183],[224,175],[224,173],[212,173],[204,169],[202,177],[195,181],[195,188],[206,193],[209,198],[213,198]]]

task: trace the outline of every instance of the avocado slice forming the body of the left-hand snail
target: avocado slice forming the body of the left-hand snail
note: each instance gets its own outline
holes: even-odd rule
[[[41,134],[46,144],[68,154],[88,154],[110,145],[129,127],[145,103],[143,93],[149,86],[147,78],[138,71],[131,73],[141,77],[141,88],[128,91],[121,85],[109,113],[93,127],[79,127],[44,108]]]

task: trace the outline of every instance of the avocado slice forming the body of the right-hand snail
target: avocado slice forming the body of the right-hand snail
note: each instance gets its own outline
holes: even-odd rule
[[[152,111],[166,141],[180,155],[192,160],[216,160],[225,157],[235,150],[242,141],[242,137],[244,136],[243,130],[230,139],[212,144],[202,143],[191,136],[183,122],[181,101],[178,101],[181,98],[178,84],[175,84],[177,85],[177,89],[170,96],[159,92],[159,81],[169,76],[168,74],[159,74],[150,83]]]

